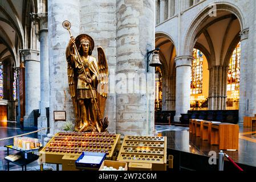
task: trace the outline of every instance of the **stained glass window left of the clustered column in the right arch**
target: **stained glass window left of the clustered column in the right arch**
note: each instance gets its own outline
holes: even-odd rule
[[[203,61],[202,52],[198,49],[193,49],[190,94],[202,93],[202,61]]]

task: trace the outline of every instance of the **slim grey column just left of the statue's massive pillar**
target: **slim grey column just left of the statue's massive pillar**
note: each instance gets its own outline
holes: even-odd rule
[[[49,107],[49,60],[48,60],[48,19],[47,13],[38,13],[40,42],[40,117],[38,129],[47,127],[46,107]],[[42,131],[46,136],[47,130]]]

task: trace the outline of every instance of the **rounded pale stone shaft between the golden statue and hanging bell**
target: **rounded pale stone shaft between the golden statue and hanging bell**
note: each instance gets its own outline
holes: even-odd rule
[[[154,135],[155,68],[147,77],[147,49],[155,49],[155,1],[116,1],[116,133]],[[139,76],[147,84],[141,92],[128,93],[127,82]],[[152,85],[152,86],[151,86]],[[134,88],[137,90],[137,86]],[[120,89],[122,87],[122,89]]]

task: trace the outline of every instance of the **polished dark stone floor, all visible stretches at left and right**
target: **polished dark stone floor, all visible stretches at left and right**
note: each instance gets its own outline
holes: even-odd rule
[[[189,133],[188,126],[174,125],[156,125],[156,133],[167,137],[167,147],[173,150],[189,152],[198,155],[208,156],[209,151],[219,152],[218,146],[211,146],[207,140],[202,140],[200,137],[192,136]],[[15,123],[0,123],[0,139],[12,137],[19,134],[29,133],[32,130],[21,130],[16,127]],[[37,138],[37,134],[28,135],[29,137]],[[7,155],[5,145],[13,144],[13,139],[0,140],[0,170],[7,170],[7,162],[4,159]],[[256,129],[243,128],[239,126],[239,150],[225,151],[235,162],[256,167]],[[21,167],[10,163],[10,170],[21,170]],[[35,161],[27,170],[39,170],[39,165]]]

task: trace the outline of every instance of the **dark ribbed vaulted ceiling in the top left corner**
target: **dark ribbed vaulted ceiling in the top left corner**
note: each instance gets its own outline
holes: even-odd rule
[[[0,62],[6,57],[17,59],[18,49],[26,48],[26,24],[29,13],[36,12],[37,1],[0,1]]]

